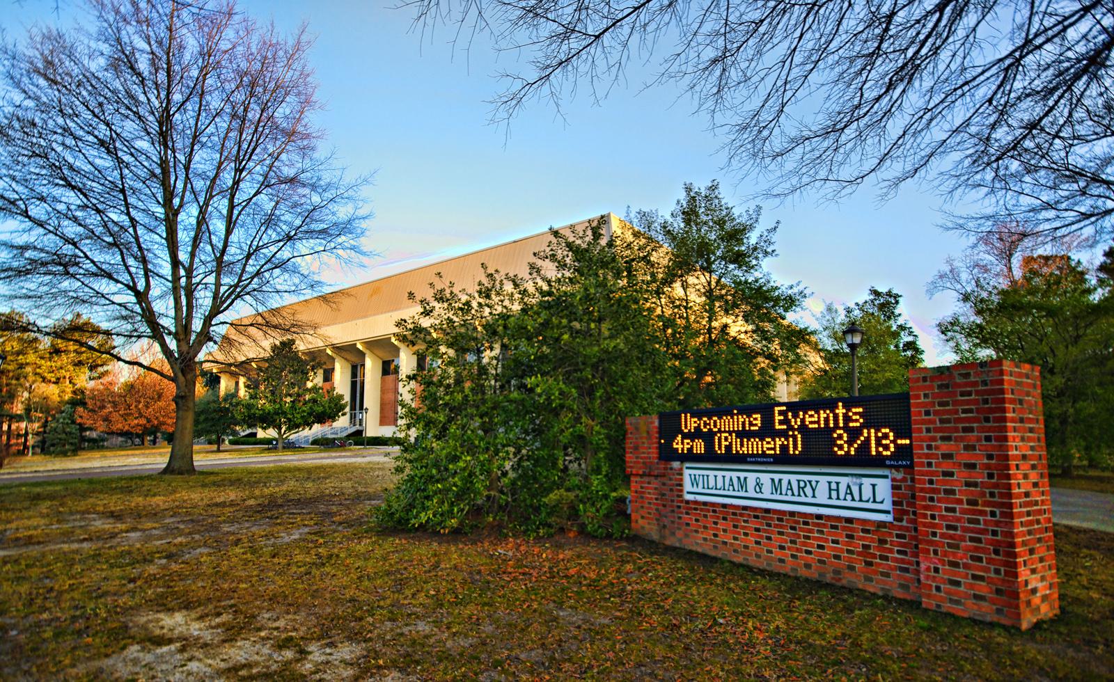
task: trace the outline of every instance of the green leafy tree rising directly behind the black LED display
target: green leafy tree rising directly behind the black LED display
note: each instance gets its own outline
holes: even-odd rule
[[[764,269],[778,226],[760,227],[760,208],[727,204],[716,182],[686,183],[668,216],[639,211],[631,221],[652,237],[643,245],[653,252],[651,301],[681,406],[771,399],[779,370],[799,362],[807,342],[788,321],[803,289]]]

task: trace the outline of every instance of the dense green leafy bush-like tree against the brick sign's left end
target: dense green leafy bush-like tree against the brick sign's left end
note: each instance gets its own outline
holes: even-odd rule
[[[566,523],[619,535],[624,419],[662,409],[667,359],[647,309],[645,252],[600,224],[553,233],[529,280],[485,270],[439,283],[400,325],[430,369],[408,378],[414,438],[379,516],[440,532]]]

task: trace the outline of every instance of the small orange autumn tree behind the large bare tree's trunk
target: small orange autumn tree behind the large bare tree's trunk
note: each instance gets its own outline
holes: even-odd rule
[[[143,369],[119,368],[86,390],[78,423],[104,433],[139,436],[144,445],[159,431],[174,431],[174,382]]]

